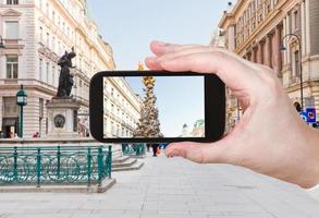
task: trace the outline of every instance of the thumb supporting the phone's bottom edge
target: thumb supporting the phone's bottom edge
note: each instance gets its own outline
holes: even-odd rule
[[[168,157],[184,157],[198,164],[229,164],[225,140],[216,143],[172,143],[165,149]]]

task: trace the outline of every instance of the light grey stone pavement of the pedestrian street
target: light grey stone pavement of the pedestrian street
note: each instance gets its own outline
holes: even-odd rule
[[[0,193],[0,218],[318,218],[298,187],[224,165],[163,156],[116,172],[103,194]]]

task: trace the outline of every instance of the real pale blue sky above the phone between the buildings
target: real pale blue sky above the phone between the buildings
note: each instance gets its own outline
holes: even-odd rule
[[[225,0],[87,0],[89,16],[111,45],[118,70],[136,70],[154,39],[176,44],[210,41]]]

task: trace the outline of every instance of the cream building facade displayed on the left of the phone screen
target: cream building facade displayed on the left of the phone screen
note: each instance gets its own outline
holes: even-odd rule
[[[143,100],[124,77],[105,78],[103,137],[133,137]]]

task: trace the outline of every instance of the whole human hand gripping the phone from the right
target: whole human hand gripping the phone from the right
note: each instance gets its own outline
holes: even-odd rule
[[[230,164],[311,187],[319,183],[319,134],[299,118],[275,73],[221,49],[154,41],[151,70],[217,74],[238,98],[241,121],[222,140],[173,143],[169,157],[200,164]]]

